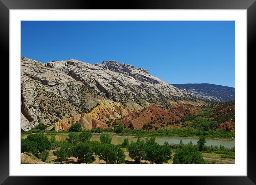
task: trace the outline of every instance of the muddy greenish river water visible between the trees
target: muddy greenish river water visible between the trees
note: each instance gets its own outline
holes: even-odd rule
[[[29,134],[21,134],[21,138],[25,139]],[[65,140],[68,135],[55,135],[55,134],[45,134],[46,137],[48,137],[49,139],[51,139],[51,136],[55,136],[55,139],[57,141],[63,141]],[[128,138],[129,142],[134,141],[136,142],[138,137],[132,137],[132,138]],[[143,140],[145,140],[145,138],[141,138]],[[169,144],[170,143],[175,143],[175,144],[179,144],[179,140],[183,141],[184,144],[189,143],[189,141],[192,141],[193,144],[197,144],[197,140],[198,138],[194,138],[194,137],[156,137],[156,141],[158,144],[162,145],[164,144],[165,141],[167,141]],[[228,140],[217,140],[217,139],[205,139],[206,140],[206,145],[224,145],[227,148],[232,148],[233,146],[235,146],[235,141],[228,141]],[[99,141],[100,139],[99,137],[92,137],[91,141]],[[124,138],[122,137],[112,137],[112,144],[114,145],[118,145],[118,144],[122,144],[124,141]]]

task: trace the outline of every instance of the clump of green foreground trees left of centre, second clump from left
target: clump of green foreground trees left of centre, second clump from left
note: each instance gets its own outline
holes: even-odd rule
[[[60,144],[60,149],[55,152],[60,161],[67,160],[74,156],[79,162],[91,163],[98,156],[105,164],[122,164],[125,155],[120,147],[111,144],[112,138],[109,135],[101,135],[100,142],[90,141],[92,134],[82,132],[80,134],[71,132],[67,141]]]

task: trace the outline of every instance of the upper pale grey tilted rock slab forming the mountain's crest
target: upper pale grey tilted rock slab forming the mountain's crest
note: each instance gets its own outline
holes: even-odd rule
[[[143,104],[143,99],[161,106],[182,100],[200,103],[190,93],[148,74],[147,70],[134,68],[133,65],[116,61],[87,64],[78,60],[51,61],[47,65],[124,105],[128,103],[128,99],[143,107],[148,107],[145,102]]]

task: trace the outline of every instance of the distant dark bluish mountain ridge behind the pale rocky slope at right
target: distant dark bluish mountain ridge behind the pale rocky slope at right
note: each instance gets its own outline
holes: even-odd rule
[[[235,99],[235,88],[215,84],[172,84],[203,100],[227,102]]]

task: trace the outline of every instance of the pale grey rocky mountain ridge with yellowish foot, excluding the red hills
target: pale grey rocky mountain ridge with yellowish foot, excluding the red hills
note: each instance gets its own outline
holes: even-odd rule
[[[68,129],[72,117],[81,120],[84,128],[105,127],[107,121],[151,106],[205,104],[141,67],[73,59],[44,64],[21,57],[21,131],[39,123]]]

